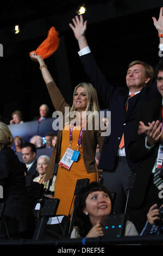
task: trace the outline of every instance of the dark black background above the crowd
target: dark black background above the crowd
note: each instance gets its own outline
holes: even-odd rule
[[[113,86],[126,86],[131,61],[157,64],[159,38],[152,16],[158,19],[162,1],[6,1],[0,11],[0,114],[5,123],[9,123],[16,109],[23,112],[24,121],[39,115],[42,103],[47,103],[51,116],[55,110],[39,64],[29,57],[52,26],[59,32],[60,45],[45,62],[66,101],[72,103],[73,89],[78,83],[89,82],[77,54],[77,40],[68,26],[82,4],[86,7],[83,16],[87,20],[87,41]],[[21,28],[18,34],[13,32],[16,24]],[[106,107],[102,102],[100,105]]]

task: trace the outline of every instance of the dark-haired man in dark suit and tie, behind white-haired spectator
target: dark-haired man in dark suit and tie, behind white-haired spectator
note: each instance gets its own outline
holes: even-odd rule
[[[24,143],[22,145],[22,158],[27,167],[27,175],[38,176],[39,173],[36,170],[37,161],[36,157],[36,147],[33,143]]]

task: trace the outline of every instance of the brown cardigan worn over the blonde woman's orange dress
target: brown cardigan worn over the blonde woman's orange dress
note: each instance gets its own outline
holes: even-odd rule
[[[54,81],[49,82],[47,84],[49,95],[51,96],[53,106],[55,111],[61,111],[62,114],[65,112],[65,107],[70,107],[62,96],[60,90],[54,83]],[[65,120],[65,119],[64,119]],[[54,172],[54,164],[59,163],[60,161],[60,149],[61,149],[61,138],[62,138],[62,131],[58,131],[57,136],[57,143],[52,151],[51,160],[48,164],[48,170],[45,177],[45,180],[51,179],[53,177]],[[101,130],[84,130],[83,131],[83,160],[85,164],[85,168],[87,173],[97,172],[98,174],[98,167],[95,162],[95,154],[96,154],[96,147],[97,144],[99,145],[99,151],[101,152],[103,146],[104,137],[101,136]]]

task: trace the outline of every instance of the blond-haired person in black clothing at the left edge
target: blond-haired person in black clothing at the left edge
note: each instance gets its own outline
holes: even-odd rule
[[[32,239],[35,219],[26,191],[24,164],[11,149],[12,143],[8,126],[0,123],[0,185],[3,187],[1,203],[5,204],[5,223],[1,218],[0,239]]]

